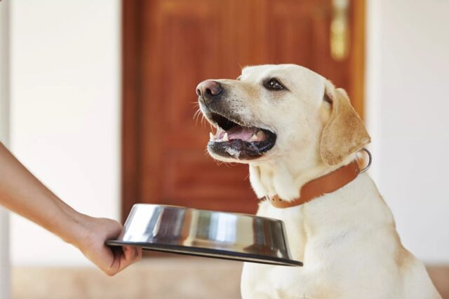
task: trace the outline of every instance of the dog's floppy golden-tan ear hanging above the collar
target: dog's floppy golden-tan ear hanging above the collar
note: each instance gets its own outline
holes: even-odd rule
[[[321,135],[321,158],[328,165],[337,165],[348,155],[370,143],[370,135],[344,90],[326,89],[324,97],[332,105],[332,112]]]

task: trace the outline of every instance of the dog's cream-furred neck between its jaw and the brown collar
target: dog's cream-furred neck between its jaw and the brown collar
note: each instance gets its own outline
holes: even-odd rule
[[[300,197],[301,187],[319,176],[347,165],[354,160],[350,155],[338,165],[329,166],[321,159],[291,159],[282,157],[274,160],[250,164],[250,183],[257,197],[278,195],[290,201]],[[307,161],[309,160],[309,161]]]

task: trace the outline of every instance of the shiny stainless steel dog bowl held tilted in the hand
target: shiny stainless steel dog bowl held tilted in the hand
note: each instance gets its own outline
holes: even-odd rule
[[[135,204],[109,246],[301,266],[290,258],[283,221],[248,214]]]

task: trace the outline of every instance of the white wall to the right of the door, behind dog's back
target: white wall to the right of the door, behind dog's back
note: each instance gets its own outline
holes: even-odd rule
[[[373,176],[403,244],[449,263],[449,1],[368,1]]]

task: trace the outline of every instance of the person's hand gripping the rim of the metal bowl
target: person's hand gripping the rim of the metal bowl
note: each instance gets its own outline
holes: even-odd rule
[[[105,245],[108,239],[119,237],[122,226],[117,221],[83,215],[79,224],[85,232],[74,245],[107,275],[113,276],[142,258],[142,249],[138,247]]]

